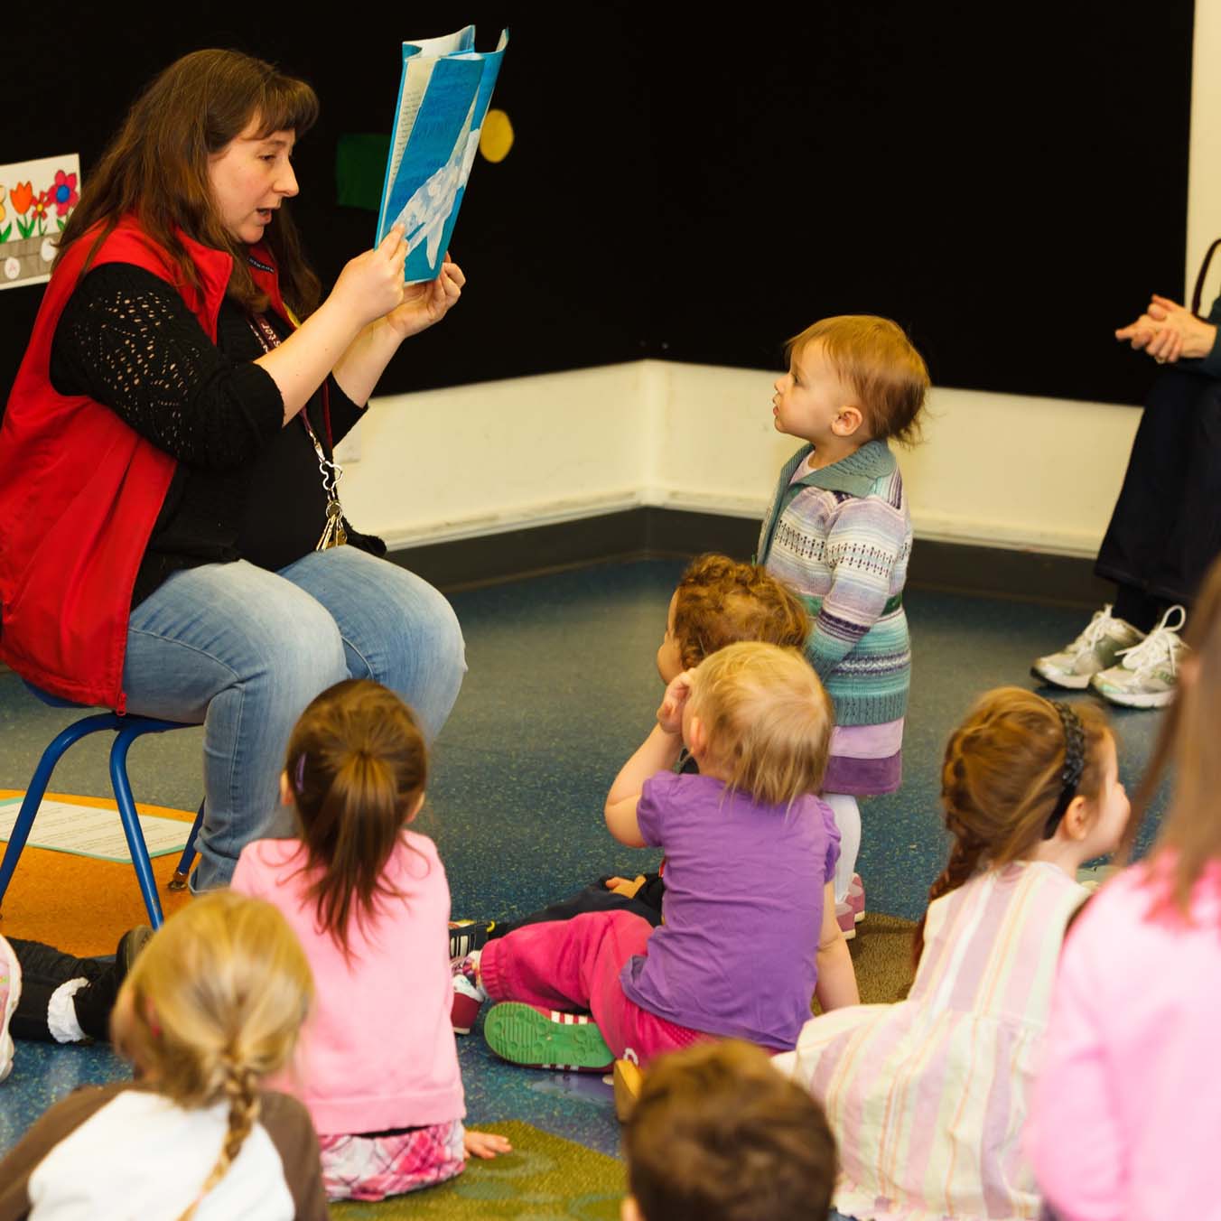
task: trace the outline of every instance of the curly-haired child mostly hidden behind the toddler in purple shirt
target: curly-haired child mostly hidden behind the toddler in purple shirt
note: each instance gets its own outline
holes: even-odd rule
[[[665,635],[657,650],[657,673],[669,685],[709,653],[740,641],[762,641],[800,648],[810,631],[810,618],[796,596],[757,564],[744,564],[716,553],[698,556],[679,578],[665,615]],[[687,761],[686,769],[694,764]],[[518,919],[465,921],[451,933],[451,954],[460,957],[487,940],[526,924],[571,919],[589,911],[629,911],[650,924],[662,922],[665,883],[659,873],[635,878],[601,877],[575,895],[549,904]],[[457,987],[460,988],[457,977]],[[459,993],[459,998],[463,994]],[[460,999],[454,1005],[454,1029],[466,1034],[477,1004]]]

